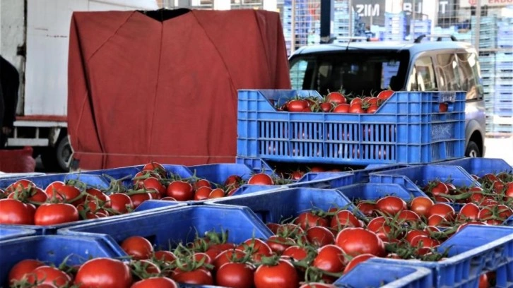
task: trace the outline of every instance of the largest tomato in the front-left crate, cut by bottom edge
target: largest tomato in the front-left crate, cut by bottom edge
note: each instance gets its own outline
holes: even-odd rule
[[[74,284],[81,288],[124,288],[132,284],[128,265],[111,258],[93,258],[83,263],[76,272]]]

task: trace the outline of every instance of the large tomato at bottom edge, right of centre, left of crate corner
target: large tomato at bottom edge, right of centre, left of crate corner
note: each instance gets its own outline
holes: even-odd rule
[[[277,265],[260,265],[254,272],[255,288],[297,288],[299,277],[294,266],[287,260],[278,260]]]

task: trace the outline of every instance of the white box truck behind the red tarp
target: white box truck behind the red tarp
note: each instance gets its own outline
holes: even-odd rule
[[[0,54],[20,73],[9,148],[31,146],[47,171],[69,169],[67,75],[73,11],[156,10],[156,0],[2,0]]]

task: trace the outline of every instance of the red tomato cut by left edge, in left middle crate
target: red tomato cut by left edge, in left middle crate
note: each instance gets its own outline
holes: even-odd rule
[[[34,224],[34,212],[21,201],[8,198],[0,200],[0,224]]]

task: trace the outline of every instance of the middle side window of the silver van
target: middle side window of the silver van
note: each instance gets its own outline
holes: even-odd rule
[[[438,54],[438,66],[440,67],[440,90],[461,91],[458,61],[452,53]]]

